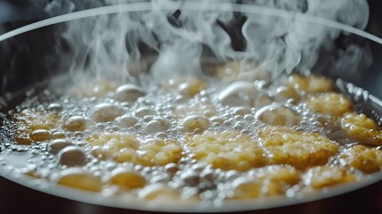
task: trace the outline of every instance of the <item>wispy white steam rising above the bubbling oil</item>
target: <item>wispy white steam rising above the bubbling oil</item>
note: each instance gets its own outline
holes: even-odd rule
[[[76,4],[53,2],[46,7],[47,11],[53,12],[60,4],[65,5],[65,10],[76,10]],[[103,4],[116,2],[106,0]],[[132,2],[136,1],[119,0],[118,4]],[[73,76],[80,73],[120,81],[138,81],[142,75],[150,79],[187,76],[201,73],[200,61],[205,60],[206,53],[212,53],[209,55],[220,62],[259,63],[256,68],[242,66],[238,78],[254,80],[257,72],[272,70],[268,77],[272,80],[282,73],[312,69],[322,51],[334,49],[334,41],[341,33],[295,19],[293,15],[233,12],[232,5],[226,4],[230,2],[152,0],[148,11],[70,21],[61,35],[72,47],[73,53],[66,61],[71,65],[70,72]],[[200,10],[187,10],[190,4]],[[216,4],[226,6],[215,11]],[[369,18],[364,0],[248,0],[241,4],[304,13],[360,29],[365,28]],[[235,46],[238,43],[242,44]],[[360,46],[352,45],[343,52],[344,56],[335,63],[337,70],[349,60],[361,62],[365,58],[365,50]],[[155,57],[150,70],[145,72],[147,66],[142,65],[142,58],[147,53]]]

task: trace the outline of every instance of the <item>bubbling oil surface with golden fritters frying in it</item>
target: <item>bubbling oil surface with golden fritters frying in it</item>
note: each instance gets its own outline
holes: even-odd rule
[[[317,79],[323,89],[304,88]],[[336,93],[326,78],[285,78],[266,88],[209,78],[144,89],[97,84],[45,90],[4,115],[3,167],[108,196],[197,202],[294,197],[382,168],[378,126],[368,120],[370,146],[367,137],[352,136],[368,128],[363,120],[346,132],[345,113],[321,111],[322,103],[337,102],[326,96]],[[374,168],[362,165],[361,154],[348,155],[354,146],[374,155]]]

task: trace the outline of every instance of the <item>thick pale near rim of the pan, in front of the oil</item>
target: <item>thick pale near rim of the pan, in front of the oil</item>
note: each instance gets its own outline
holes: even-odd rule
[[[85,202],[95,206],[104,206],[110,208],[124,209],[124,210],[142,210],[142,211],[159,211],[159,212],[183,212],[183,213],[218,213],[218,212],[234,212],[234,211],[248,211],[248,210],[266,210],[280,208],[290,205],[302,204],[305,202],[313,202],[321,199],[328,199],[344,193],[350,193],[373,185],[382,180],[382,171],[362,177],[362,180],[353,183],[340,184],[329,186],[321,190],[313,190],[313,192],[303,193],[299,196],[287,197],[285,195],[272,196],[258,199],[248,200],[234,200],[227,201],[222,204],[214,204],[213,202],[191,202],[191,203],[178,203],[175,206],[158,206],[158,202],[142,202],[136,199],[126,200],[122,197],[107,197],[101,193],[91,193],[81,191],[75,188],[55,185],[44,181],[38,181],[29,178],[20,173],[10,173],[9,169],[0,168],[0,176],[4,177],[16,184],[23,185],[27,188],[36,190],[41,193],[47,193],[53,196],[61,197],[67,200],[74,200],[77,202]],[[168,204],[167,204],[168,205]]]

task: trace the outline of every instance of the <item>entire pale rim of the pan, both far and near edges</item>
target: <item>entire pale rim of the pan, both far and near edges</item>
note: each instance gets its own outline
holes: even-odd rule
[[[193,5],[193,6],[192,6]],[[196,6],[195,6],[196,5]],[[183,4],[182,8],[189,10],[199,10],[197,6],[198,4]],[[240,4],[225,4],[219,3],[214,9],[209,10],[221,10],[228,11],[227,8],[233,5],[233,9],[230,8],[230,11],[238,11],[238,12],[248,12],[248,13],[258,13],[258,14],[267,14],[267,15],[276,15],[278,17],[289,17],[293,19],[297,19],[299,21],[308,21],[316,24],[321,24],[323,26],[329,28],[340,29],[345,32],[353,33],[360,37],[365,37],[371,41],[374,41],[380,45],[382,45],[382,38],[376,37],[363,31],[362,29],[356,29],[354,27],[339,23],[337,21],[329,21],[325,19],[321,19],[318,17],[313,17],[305,14],[298,14],[295,12],[285,12],[279,9],[266,8],[256,6],[256,5],[240,5]],[[140,9],[139,9],[140,8]],[[134,12],[134,11],[142,11],[142,8],[146,8],[145,10],[150,10],[151,4],[148,3],[136,3],[136,4],[121,4],[121,5],[113,5],[107,7],[100,7],[89,9],[81,12],[71,12],[68,14],[64,14],[61,16],[56,16],[53,18],[46,19],[44,21],[37,21],[35,23],[29,24],[27,26],[21,27],[19,29],[14,29],[9,31],[3,35],[0,35],[0,42],[15,37],[17,35],[26,33],[28,31],[39,29],[47,26],[51,26],[54,24],[66,22],[66,21],[74,21],[77,19],[83,19],[86,17],[97,16],[97,15],[106,15],[118,12]],[[174,4],[173,7],[163,8],[164,10],[172,10],[178,9],[179,5]],[[139,9],[139,10],[138,10]],[[150,204],[142,204],[136,202],[126,202],[122,200],[117,200],[115,198],[105,198],[101,196],[101,194],[96,193],[85,193],[84,191],[73,190],[69,187],[64,187],[60,185],[53,185],[51,183],[41,184],[34,179],[21,176],[21,175],[13,175],[9,173],[7,169],[0,167],[0,176],[6,179],[9,179],[17,184],[24,185],[28,188],[37,190],[42,193],[49,193],[54,196],[63,197],[70,200],[76,200],[78,202],[86,202],[94,205],[102,205],[113,208],[122,208],[122,209],[133,209],[133,210],[149,210],[149,211],[167,211],[167,212],[227,212],[227,211],[244,211],[244,210],[263,210],[269,208],[277,208],[287,205],[300,204],[304,202],[313,202],[316,200],[320,200],[323,198],[329,198],[332,196],[336,196],[342,193],[352,192],[356,189],[360,189],[367,185],[372,185],[382,180],[382,172],[377,172],[371,174],[368,177],[364,177],[361,181],[357,181],[352,184],[338,185],[329,187],[329,189],[325,189],[322,191],[314,191],[313,193],[307,193],[303,198],[288,198],[285,196],[274,197],[274,198],[266,198],[265,200],[259,200],[253,202],[254,200],[246,201],[246,202],[229,202],[226,204],[222,204],[221,206],[211,207],[208,204],[200,204],[199,206],[195,205],[187,205],[184,207],[166,207],[160,206],[155,207],[155,210]]]

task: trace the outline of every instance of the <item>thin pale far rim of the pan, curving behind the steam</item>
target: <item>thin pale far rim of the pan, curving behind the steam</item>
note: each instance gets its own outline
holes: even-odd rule
[[[313,15],[307,15],[307,14],[298,13],[298,12],[289,12],[289,11],[284,11],[281,9],[252,5],[252,4],[219,3],[219,4],[214,4],[213,8],[212,7],[201,8],[198,3],[202,3],[202,2],[204,1],[196,0],[196,1],[192,1],[192,3],[184,2],[182,5],[169,3],[166,6],[160,8],[159,10],[167,11],[167,10],[183,9],[183,10],[191,10],[191,11],[203,10],[203,11],[220,11],[220,12],[245,12],[245,13],[252,13],[252,14],[274,16],[279,18],[289,18],[293,20],[318,24],[318,25],[333,28],[333,29],[339,29],[347,33],[352,33],[360,37],[365,37],[371,41],[374,41],[382,45],[381,37],[377,37],[362,29],[357,29],[350,25],[346,25],[338,21],[331,21],[331,20],[313,16]],[[84,19],[84,18],[99,16],[99,15],[108,15],[108,14],[119,13],[119,12],[150,11],[151,9],[152,9],[152,4],[150,3],[129,3],[129,4],[116,4],[116,5],[110,5],[110,6],[96,7],[96,8],[87,9],[87,10],[78,11],[78,12],[69,12],[66,14],[53,16],[51,18],[48,18],[42,21],[36,21],[28,25],[25,25],[23,27],[20,27],[18,29],[13,29],[9,32],[6,32],[0,35],[0,42],[8,38],[15,37],[20,34],[26,33],[28,31],[34,30],[34,29],[40,29],[40,28],[44,28],[47,26],[51,26],[51,25],[55,25],[55,24],[59,24],[59,23],[67,22],[67,21],[75,21],[78,19]]]

